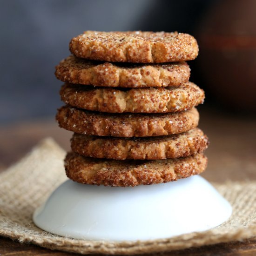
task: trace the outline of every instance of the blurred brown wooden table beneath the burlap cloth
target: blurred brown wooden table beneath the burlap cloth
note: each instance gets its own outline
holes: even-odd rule
[[[200,109],[200,128],[209,136],[207,171],[202,175],[210,182],[248,181],[256,179],[256,118],[253,115],[230,115],[214,109]],[[53,120],[38,120],[0,128],[0,171],[18,161],[32,146],[47,136],[63,148],[69,148],[71,133],[58,128]],[[0,255],[74,255],[20,244],[0,237]],[[172,251],[164,255],[213,256],[256,255],[256,238],[243,242],[220,243],[201,248]]]

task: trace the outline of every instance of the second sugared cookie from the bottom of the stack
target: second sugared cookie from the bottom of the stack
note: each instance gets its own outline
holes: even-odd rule
[[[208,138],[199,128],[160,137],[115,138],[74,134],[72,151],[83,156],[116,160],[160,160],[195,155],[208,146]]]

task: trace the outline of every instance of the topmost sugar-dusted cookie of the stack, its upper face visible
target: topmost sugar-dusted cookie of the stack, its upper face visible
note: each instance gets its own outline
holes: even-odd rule
[[[97,61],[162,63],[194,60],[195,38],[178,32],[86,31],[69,43],[72,54]]]

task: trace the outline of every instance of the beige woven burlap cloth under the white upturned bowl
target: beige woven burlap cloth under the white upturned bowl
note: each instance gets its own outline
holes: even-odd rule
[[[0,175],[0,235],[50,249],[82,254],[138,254],[242,240],[256,236],[256,182],[214,184],[232,204],[233,214],[221,226],[146,242],[84,241],[54,236],[37,228],[34,209],[66,180],[65,152],[52,139],[39,143],[20,162]]]

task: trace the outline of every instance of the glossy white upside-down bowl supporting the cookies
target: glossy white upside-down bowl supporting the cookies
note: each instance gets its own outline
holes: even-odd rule
[[[134,188],[64,182],[34,213],[53,234],[87,240],[148,240],[203,231],[231,215],[230,204],[199,175]]]

